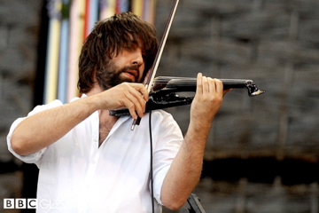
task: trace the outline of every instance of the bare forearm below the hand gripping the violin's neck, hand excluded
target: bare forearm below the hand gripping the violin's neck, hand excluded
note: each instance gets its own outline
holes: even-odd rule
[[[162,186],[161,201],[167,208],[181,208],[198,184],[210,126],[210,123],[205,127],[190,123],[183,145],[167,171]]]

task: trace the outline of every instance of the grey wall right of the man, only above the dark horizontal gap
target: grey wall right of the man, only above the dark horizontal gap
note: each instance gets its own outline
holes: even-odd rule
[[[253,79],[225,96],[206,156],[318,158],[317,1],[182,1],[158,75]],[[170,1],[160,1],[164,26]],[[185,112],[189,109],[186,108]],[[188,118],[175,115],[182,125]],[[175,109],[172,109],[175,112]],[[186,113],[187,114],[187,113]],[[186,128],[186,126],[184,126]]]

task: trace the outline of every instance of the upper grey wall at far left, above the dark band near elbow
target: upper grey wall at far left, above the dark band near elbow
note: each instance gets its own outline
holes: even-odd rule
[[[0,2],[0,159],[10,158],[4,150],[10,123],[32,108],[36,69],[40,1]],[[10,155],[11,156],[11,155]]]

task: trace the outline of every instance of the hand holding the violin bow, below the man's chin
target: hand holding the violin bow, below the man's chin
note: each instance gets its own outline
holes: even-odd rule
[[[107,91],[97,94],[101,109],[115,110],[128,108],[134,119],[145,112],[149,94],[142,83],[121,83]]]

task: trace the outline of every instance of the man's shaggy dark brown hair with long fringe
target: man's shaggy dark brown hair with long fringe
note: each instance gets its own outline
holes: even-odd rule
[[[141,41],[144,53],[144,76],[152,67],[159,48],[155,28],[131,12],[115,14],[97,21],[89,36],[85,39],[79,58],[80,92],[88,92],[93,85],[94,70],[105,67],[132,41]],[[143,76],[143,79],[144,79]]]

